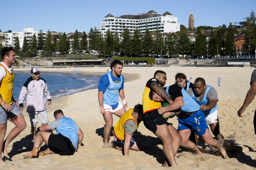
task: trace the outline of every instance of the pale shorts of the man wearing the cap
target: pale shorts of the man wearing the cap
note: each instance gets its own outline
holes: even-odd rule
[[[42,122],[42,125],[46,125],[49,122],[47,110],[44,111],[28,111],[31,126],[36,127],[38,119]]]

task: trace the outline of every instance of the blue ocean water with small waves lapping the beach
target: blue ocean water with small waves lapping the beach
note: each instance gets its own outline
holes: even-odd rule
[[[29,77],[30,73],[14,71],[13,97],[17,102],[21,88]],[[49,92],[53,98],[95,89],[98,87],[101,76],[82,75],[79,73],[40,72],[40,77],[46,80]]]

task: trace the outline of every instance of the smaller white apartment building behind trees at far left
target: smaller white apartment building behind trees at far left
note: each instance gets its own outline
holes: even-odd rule
[[[39,35],[39,31],[34,31],[34,28],[24,28],[23,32],[6,32],[4,33],[5,38],[5,47],[13,46],[15,47],[15,38],[18,36],[20,41],[20,47],[22,49],[24,37],[27,38],[27,41],[31,40],[33,35],[36,35],[36,38]],[[46,32],[43,32],[43,36],[46,37]]]

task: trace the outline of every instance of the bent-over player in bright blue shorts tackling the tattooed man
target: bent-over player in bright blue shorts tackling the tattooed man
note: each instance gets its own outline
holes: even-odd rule
[[[165,114],[173,111],[174,109],[177,109],[178,102],[176,102],[176,99],[178,97],[182,97],[184,102],[184,105],[180,108],[181,111],[177,112],[177,119],[179,122],[178,131],[182,137],[181,146],[195,151],[198,155],[205,153],[203,149],[198,148],[195,143],[188,140],[191,131],[194,130],[196,134],[202,136],[203,140],[208,145],[219,149],[221,155],[225,158],[226,153],[225,150],[220,146],[220,142],[218,142],[216,139],[213,139],[210,135],[210,131],[206,125],[204,113],[200,110],[199,104],[197,104],[196,101],[194,101],[182,87],[174,84],[165,87],[164,89],[174,102],[167,107],[159,108],[158,112]],[[149,98],[153,101],[164,102],[164,99],[153,90],[150,91]]]

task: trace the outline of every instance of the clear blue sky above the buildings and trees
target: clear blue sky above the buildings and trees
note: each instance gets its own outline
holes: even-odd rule
[[[168,11],[178,17],[178,23],[188,27],[192,10],[195,27],[217,27],[229,22],[245,21],[256,0],[1,0],[0,28],[2,31],[23,31],[23,28],[42,29],[46,32],[89,32],[98,28],[107,14],[119,17],[155,10]]]

